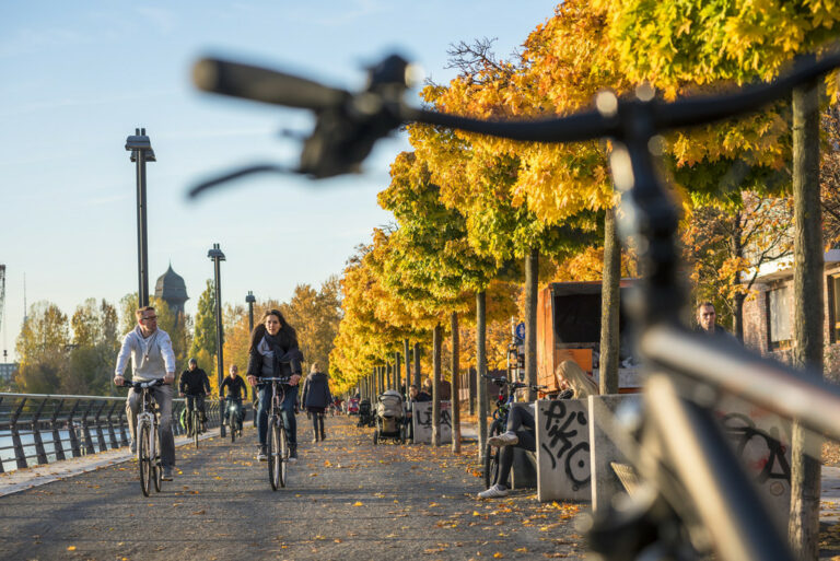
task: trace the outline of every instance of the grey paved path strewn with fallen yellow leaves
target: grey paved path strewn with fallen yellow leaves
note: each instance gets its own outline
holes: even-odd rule
[[[476,447],[374,446],[353,418],[327,419],[288,487],[270,490],[245,437],[179,448],[178,470],[145,499],[136,464],[103,468],[0,499],[2,559],[582,559],[581,505],[533,491],[482,502]]]

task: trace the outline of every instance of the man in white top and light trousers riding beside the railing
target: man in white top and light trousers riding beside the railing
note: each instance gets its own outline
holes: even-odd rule
[[[172,383],[175,381],[175,352],[172,340],[166,331],[158,329],[158,315],[152,306],[141,307],[135,312],[137,327],[126,334],[122,348],[117,355],[117,367],[114,371],[114,383],[121,385],[122,373],[131,357],[132,382],[150,382],[163,378],[165,386],[151,388],[154,400],[161,412],[161,464],[163,480],[172,481],[172,468],[175,466],[175,439],[172,434]],[[131,452],[136,451],[135,431],[137,413],[140,409],[140,394],[131,388],[126,401],[128,430],[131,433]]]

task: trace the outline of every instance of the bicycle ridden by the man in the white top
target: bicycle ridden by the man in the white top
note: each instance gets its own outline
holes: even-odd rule
[[[161,492],[163,466],[161,465],[161,435],[158,429],[158,404],[152,397],[152,388],[163,385],[163,379],[151,382],[125,381],[122,387],[130,387],[140,394],[140,412],[137,413],[135,444],[137,446],[137,466],[140,470],[140,489],[149,496],[154,481],[154,490]]]

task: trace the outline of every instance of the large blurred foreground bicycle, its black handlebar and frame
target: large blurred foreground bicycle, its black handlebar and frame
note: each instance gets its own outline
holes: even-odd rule
[[[638,334],[639,354],[649,373],[640,420],[642,449],[653,441],[656,452],[646,458],[654,461],[653,467],[637,466],[643,475],[652,475],[657,492],[676,512],[689,514],[690,523],[693,513],[681,504],[685,496],[674,492],[672,483],[685,488],[699,524],[711,536],[721,559],[781,561],[792,560],[793,556],[786,541],[773,530],[748,477],[715,426],[708,396],[711,394],[713,401],[719,390],[738,395],[797,419],[813,431],[840,439],[840,388],[822,382],[819,375],[761,359],[745,349],[688,332],[681,326],[677,314],[687,299],[677,276],[678,212],[660,180],[650,145],[669,130],[756,112],[837,67],[840,55],[833,52],[798,65],[770,84],[672,103],[652,97],[618,100],[605,92],[597,97],[596,110],[518,122],[482,121],[407,106],[402,100],[407,62],[396,56],[372,70],[368,90],[359,94],[221,60],[200,61],[195,75],[197,84],[207,91],[315,110],[316,127],[304,144],[298,172],[316,178],[355,170],[378,138],[407,121],[524,141],[609,138],[610,167],[625,210],[619,234],[625,244],[635,237],[642,270],[646,272],[634,288],[638,297],[629,312]],[[257,83],[259,87],[254,87]],[[276,87],[266,87],[271,83]],[[371,97],[381,103],[371,104]],[[371,110],[358,110],[374,105]],[[335,136],[337,130],[342,133]],[[219,183],[199,186],[192,195]],[[609,531],[596,528],[595,535],[598,529],[608,540]],[[607,557],[626,559],[627,553],[605,545]]]

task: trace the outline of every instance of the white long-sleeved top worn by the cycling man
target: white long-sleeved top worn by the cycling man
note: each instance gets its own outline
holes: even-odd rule
[[[149,337],[143,337],[140,327],[126,334],[122,348],[117,355],[115,376],[121,376],[131,357],[131,379],[148,382],[162,378],[167,372],[175,372],[175,352],[172,350],[172,339],[163,329],[156,329]]]

